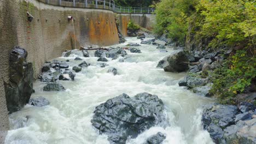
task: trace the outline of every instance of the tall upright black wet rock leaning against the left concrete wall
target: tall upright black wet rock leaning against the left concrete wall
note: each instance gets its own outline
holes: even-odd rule
[[[27,63],[27,55],[27,51],[19,46],[9,53],[9,81],[4,82],[9,113],[24,107],[33,93],[33,64]]]

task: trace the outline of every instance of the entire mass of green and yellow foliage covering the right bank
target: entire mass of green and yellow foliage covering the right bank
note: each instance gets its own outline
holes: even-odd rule
[[[214,71],[212,93],[223,103],[236,103],[236,95],[255,82],[256,7],[250,0],[162,0],[156,5],[156,34],[185,44],[233,53]],[[189,47],[191,50],[192,47]]]

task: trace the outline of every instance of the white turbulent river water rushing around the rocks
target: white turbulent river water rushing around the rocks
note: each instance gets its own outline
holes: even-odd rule
[[[136,38],[127,38],[126,43],[140,43]],[[109,143],[106,135],[99,135],[92,127],[91,119],[97,105],[106,100],[126,93],[131,97],[148,92],[158,95],[165,104],[170,127],[153,127],[140,134],[129,144],[146,142],[147,138],[161,131],[166,134],[164,143],[213,143],[207,131],[201,125],[201,107],[213,100],[196,95],[177,82],[185,73],[166,73],[156,68],[158,61],[174,50],[160,52],[154,45],[138,46],[142,53],[130,53],[125,62],[119,59],[111,61],[108,67],[97,66],[97,59],[83,58],[92,65],[77,73],[75,81],[59,81],[66,88],[65,92],[43,92],[45,83],[34,82],[36,93],[32,97],[45,97],[50,105],[35,107],[26,105],[24,109],[11,114],[10,127],[5,143]],[[69,69],[79,64],[71,55]],[[118,75],[107,73],[110,67],[118,69]],[[27,118],[27,121],[25,121]],[[22,121],[22,119],[24,119]]]

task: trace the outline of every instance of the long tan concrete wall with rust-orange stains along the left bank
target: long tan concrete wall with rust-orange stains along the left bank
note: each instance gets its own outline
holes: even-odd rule
[[[27,11],[34,16],[27,20]],[[0,0],[0,143],[2,131],[9,128],[4,82],[9,81],[9,51],[19,45],[28,51],[34,77],[45,61],[61,56],[65,50],[85,45],[117,44],[118,31],[112,11],[65,8],[37,0]],[[67,16],[73,16],[74,23]],[[74,32],[75,31],[75,32]],[[75,35],[74,35],[75,33]],[[74,45],[76,42],[76,46]]]

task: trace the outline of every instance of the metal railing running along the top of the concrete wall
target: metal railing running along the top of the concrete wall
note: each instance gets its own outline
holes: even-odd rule
[[[62,7],[108,9],[120,14],[152,14],[154,8],[131,8],[115,5],[113,0],[38,0]]]

